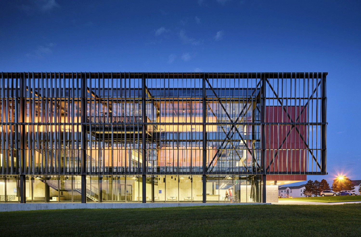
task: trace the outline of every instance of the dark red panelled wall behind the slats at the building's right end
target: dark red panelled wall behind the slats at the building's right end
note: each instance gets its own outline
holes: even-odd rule
[[[306,108],[303,106],[266,106],[266,123],[307,122]],[[302,114],[301,111],[303,110]],[[297,132],[296,128],[299,130]],[[307,171],[307,151],[301,136],[307,138],[307,126],[266,125],[266,167],[270,172]],[[300,136],[301,135],[301,136]],[[284,143],[283,143],[284,141]],[[283,143],[283,144],[282,144]]]

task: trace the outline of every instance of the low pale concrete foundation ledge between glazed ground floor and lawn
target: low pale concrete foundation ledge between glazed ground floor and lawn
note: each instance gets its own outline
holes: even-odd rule
[[[2,211],[37,211],[57,209],[123,209],[154,207],[194,207],[194,206],[235,206],[270,205],[271,203],[1,203]]]

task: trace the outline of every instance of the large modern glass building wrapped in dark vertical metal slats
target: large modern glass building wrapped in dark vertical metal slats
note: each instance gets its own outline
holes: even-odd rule
[[[0,202],[266,202],[326,174],[326,75],[1,73]]]

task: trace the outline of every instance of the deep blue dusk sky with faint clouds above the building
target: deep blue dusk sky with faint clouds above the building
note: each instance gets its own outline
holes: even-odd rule
[[[0,71],[326,71],[329,175],[308,178],[361,179],[361,1],[79,2],[2,3]]]

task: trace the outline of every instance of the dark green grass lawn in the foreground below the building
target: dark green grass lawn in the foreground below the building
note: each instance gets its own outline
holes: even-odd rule
[[[0,236],[360,236],[361,203],[0,213]]]

